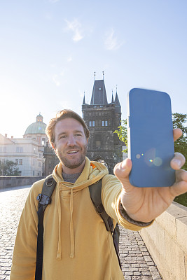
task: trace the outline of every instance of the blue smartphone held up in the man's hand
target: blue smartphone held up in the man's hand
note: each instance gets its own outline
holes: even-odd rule
[[[171,99],[166,92],[133,88],[127,95],[130,183],[140,188],[172,186],[175,171]]]

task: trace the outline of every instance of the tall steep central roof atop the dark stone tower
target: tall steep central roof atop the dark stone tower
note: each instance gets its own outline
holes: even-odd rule
[[[104,80],[95,80],[90,105],[108,104]]]

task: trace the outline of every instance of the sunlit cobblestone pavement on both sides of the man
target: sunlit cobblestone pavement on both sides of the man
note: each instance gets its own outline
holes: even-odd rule
[[[0,190],[0,280],[10,279],[15,235],[29,188]],[[138,232],[120,228],[120,260],[125,280],[162,279]]]

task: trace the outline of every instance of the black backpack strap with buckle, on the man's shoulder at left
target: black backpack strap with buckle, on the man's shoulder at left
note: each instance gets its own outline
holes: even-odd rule
[[[36,272],[35,280],[41,280],[42,278],[42,265],[43,265],[43,212],[45,211],[48,204],[51,203],[51,195],[55,189],[57,182],[50,175],[46,178],[43,183],[43,188],[41,193],[38,195],[37,200],[39,200],[38,209],[38,238],[37,238],[37,253],[36,253]]]

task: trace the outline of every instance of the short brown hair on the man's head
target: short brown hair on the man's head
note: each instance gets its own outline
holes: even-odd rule
[[[85,132],[85,137],[88,139],[90,136],[90,132],[88,130],[87,125],[85,124],[83,118],[81,118],[78,113],[72,111],[72,110],[67,110],[64,109],[62,111],[59,111],[56,115],[55,118],[52,118],[48,124],[48,126],[46,127],[46,134],[47,137],[50,141],[50,144],[55,143],[55,125],[57,124],[57,122],[59,122],[60,120],[64,120],[64,118],[74,118],[75,120],[78,120],[79,123],[81,123],[81,125],[83,125],[83,129]]]

